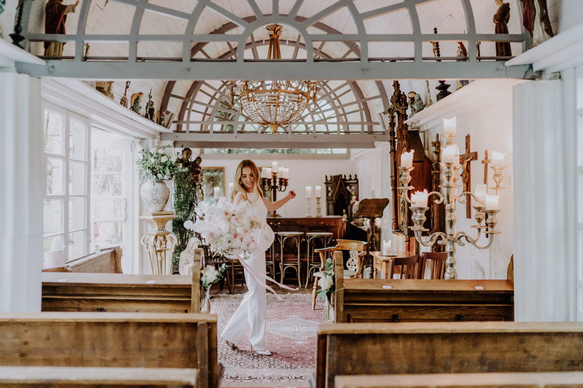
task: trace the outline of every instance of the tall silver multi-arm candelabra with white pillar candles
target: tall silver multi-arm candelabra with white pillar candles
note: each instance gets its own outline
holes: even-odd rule
[[[454,138],[457,136],[456,133],[444,133],[445,138],[447,138],[446,147],[449,145],[454,145]],[[405,200],[409,202],[412,206],[409,207],[411,209],[412,215],[411,219],[413,224],[415,225],[411,229],[415,233],[415,239],[419,242],[419,244],[423,245],[424,247],[431,247],[432,245],[438,243],[440,245],[445,245],[445,252],[447,253],[447,259],[445,261],[445,275],[444,279],[457,279],[458,274],[455,271],[455,245],[459,245],[463,247],[465,245],[463,240],[468,241],[474,247],[480,250],[484,250],[492,245],[494,240],[494,234],[498,234],[500,232],[496,232],[495,227],[498,223],[496,219],[496,215],[500,210],[487,210],[486,204],[479,200],[476,195],[470,193],[469,191],[465,191],[459,195],[456,195],[456,190],[461,187],[458,186],[457,181],[459,179],[458,170],[461,168],[459,163],[449,163],[449,162],[441,162],[441,176],[442,176],[442,184],[440,184],[441,193],[438,191],[431,191],[427,195],[427,197],[431,197],[431,195],[436,195],[438,198],[435,200],[436,204],[441,204],[445,202],[445,233],[444,232],[436,232],[431,234],[426,241],[423,241],[423,232],[429,232],[429,229],[425,229],[423,227],[426,216],[425,212],[429,210],[429,207],[416,207],[415,203],[409,199],[409,190],[412,190],[414,187],[409,186],[409,182],[411,181],[410,172],[414,169],[413,167],[399,167],[401,170],[401,187],[398,187],[398,190],[403,190],[403,195]],[[495,187],[490,187],[492,190],[496,190],[496,194],[498,194],[498,190],[502,190],[504,187],[500,186],[500,183],[503,180],[502,170],[504,167],[498,166],[490,166],[491,169],[494,170],[494,182],[496,182]],[[466,203],[465,197],[466,195],[471,195],[476,200],[476,205],[473,206],[476,209],[476,224],[472,226],[473,228],[477,229],[477,236],[472,238],[469,234],[465,232],[454,232],[456,216],[455,216],[455,209],[456,209],[456,202],[461,204]],[[482,225],[482,222],[486,220],[485,224]],[[485,230],[483,233],[490,236],[490,241],[487,245],[480,247],[477,244],[477,241],[482,236],[482,230]]]

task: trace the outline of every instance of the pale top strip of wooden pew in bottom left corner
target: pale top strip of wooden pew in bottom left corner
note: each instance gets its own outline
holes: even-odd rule
[[[1,388],[196,387],[196,369],[0,366]]]

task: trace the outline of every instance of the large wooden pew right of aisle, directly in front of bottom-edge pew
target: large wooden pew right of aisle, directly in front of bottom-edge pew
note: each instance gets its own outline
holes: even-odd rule
[[[336,323],[318,326],[317,388],[335,376],[583,371],[583,323]]]

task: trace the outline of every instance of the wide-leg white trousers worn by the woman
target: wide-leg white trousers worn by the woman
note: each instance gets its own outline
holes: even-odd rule
[[[257,252],[259,251],[259,252]],[[259,273],[265,273],[265,251],[256,250],[245,260],[251,268]],[[267,295],[264,284],[260,284],[245,269],[247,293],[243,301],[231,316],[229,323],[221,333],[221,337],[236,345],[241,343],[247,328],[251,328],[249,342],[255,350],[266,350],[265,326],[267,317]]]

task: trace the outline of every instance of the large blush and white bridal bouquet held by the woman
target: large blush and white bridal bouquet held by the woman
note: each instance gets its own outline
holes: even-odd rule
[[[252,252],[257,248],[252,231],[261,227],[261,223],[252,213],[253,209],[247,201],[233,205],[221,197],[216,204],[201,202],[195,208],[198,219],[184,223],[186,229],[201,234],[201,238],[217,254],[239,255]]]

